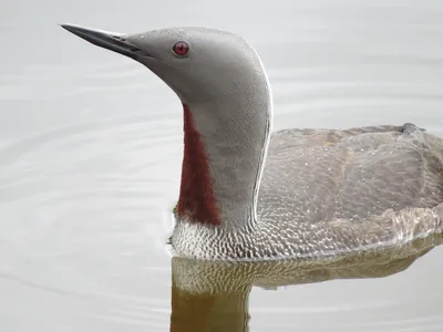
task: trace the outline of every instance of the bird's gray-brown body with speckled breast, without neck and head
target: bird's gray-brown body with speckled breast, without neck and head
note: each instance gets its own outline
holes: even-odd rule
[[[443,139],[413,124],[271,136],[253,229],[178,227],[203,259],[322,258],[443,230]],[[192,237],[199,243],[185,242]],[[222,250],[220,250],[222,249]]]

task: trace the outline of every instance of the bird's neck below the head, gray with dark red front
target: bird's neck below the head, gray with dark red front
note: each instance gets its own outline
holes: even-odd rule
[[[245,106],[248,110],[240,110]],[[270,103],[184,105],[177,205],[182,222],[227,229],[255,226],[270,121]]]

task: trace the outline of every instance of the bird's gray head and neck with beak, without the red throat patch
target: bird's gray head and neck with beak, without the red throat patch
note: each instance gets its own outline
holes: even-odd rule
[[[190,112],[188,129],[195,129],[202,141],[220,219],[254,219],[270,126],[271,94],[253,46],[236,34],[207,28],[117,34],[62,27],[99,46],[136,60],[171,86]],[[188,154],[198,158],[193,151]],[[189,167],[198,168],[195,163],[202,166],[194,160]],[[182,174],[182,187],[184,177],[186,174]],[[204,189],[200,191],[203,195]]]

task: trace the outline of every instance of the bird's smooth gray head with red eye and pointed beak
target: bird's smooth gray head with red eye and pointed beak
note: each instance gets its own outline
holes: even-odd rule
[[[208,28],[167,28],[121,34],[76,25],[70,32],[147,66],[184,104],[213,101],[266,84],[255,50],[239,35]]]

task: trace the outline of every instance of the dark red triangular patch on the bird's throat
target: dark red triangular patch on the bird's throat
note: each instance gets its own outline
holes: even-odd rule
[[[189,107],[183,105],[183,110],[185,151],[177,215],[188,217],[190,222],[220,226],[206,151],[195,128]]]

